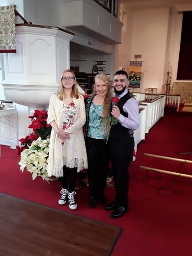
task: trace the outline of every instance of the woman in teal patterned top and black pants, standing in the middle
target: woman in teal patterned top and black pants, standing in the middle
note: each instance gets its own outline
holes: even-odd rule
[[[109,164],[106,138],[110,126],[107,121],[110,116],[112,85],[109,76],[98,74],[95,76],[92,95],[85,99],[85,144],[91,208],[97,206],[97,200],[101,204],[107,203],[104,194]]]

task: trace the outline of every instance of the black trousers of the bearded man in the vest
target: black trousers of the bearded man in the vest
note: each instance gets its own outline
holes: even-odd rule
[[[128,207],[130,179],[128,167],[133,159],[134,139],[109,140],[109,148],[116,190],[115,200],[119,205]]]

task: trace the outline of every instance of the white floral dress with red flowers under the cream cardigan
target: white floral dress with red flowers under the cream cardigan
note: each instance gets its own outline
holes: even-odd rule
[[[62,109],[63,109],[63,125],[62,125],[62,129],[66,130],[66,129],[68,129],[74,123],[74,120],[75,120],[76,107],[75,107],[74,101],[72,100],[69,103],[69,105],[66,105],[63,102]],[[64,145],[65,140],[62,140],[61,143],[62,143],[62,145]]]

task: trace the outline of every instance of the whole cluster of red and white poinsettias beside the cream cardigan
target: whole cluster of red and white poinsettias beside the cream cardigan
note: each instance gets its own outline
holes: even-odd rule
[[[46,167],[49,158],[49,143],[51,125],[47,124],[47,111],[34,110],[34,114],[29,116],[33,132],[19,141],[21,146],[17,146],[18,154],[21,156],[19,165],[23,172],[25,168],[32,174],[33,180],[41,176],[43,180],[54,180],[47,177]]]

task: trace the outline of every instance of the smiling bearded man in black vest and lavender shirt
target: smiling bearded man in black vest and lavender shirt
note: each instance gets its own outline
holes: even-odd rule
[[[113,210],[111,218],[122,217],[129,210],[128,167],[133,159],[133,131],[139,127],[139,102],[129,92],[128,86],[127,73],[124,70],[117,71],[114,75],[114,91],[119,101],[113,106],[111,115],[118,122],[111,126],[109,137],[116,197],[113,203],[105,206],[107,211]]]

